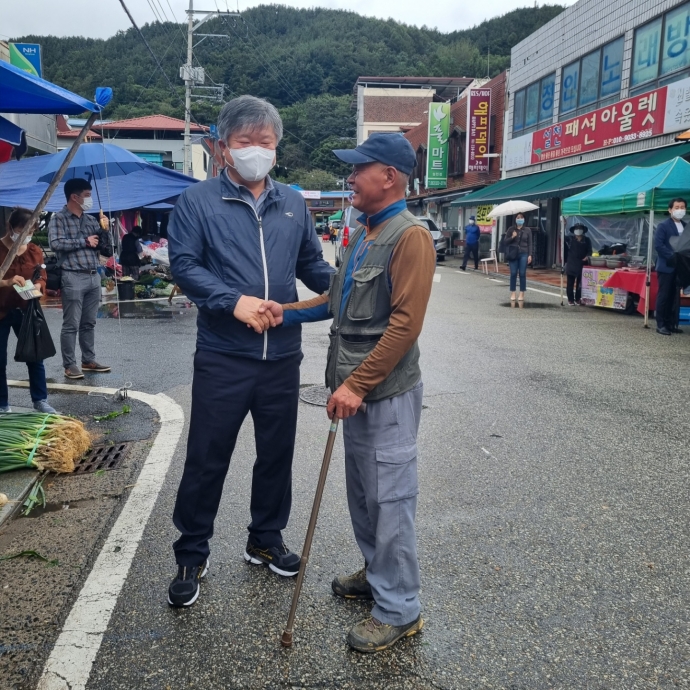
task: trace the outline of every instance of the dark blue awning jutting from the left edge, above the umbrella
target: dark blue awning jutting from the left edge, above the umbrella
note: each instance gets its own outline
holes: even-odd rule
[[[0,113],[79,115],[85,110],[98,113],[110,103],[113,90],[96,89],[95,103],[0,61]]]

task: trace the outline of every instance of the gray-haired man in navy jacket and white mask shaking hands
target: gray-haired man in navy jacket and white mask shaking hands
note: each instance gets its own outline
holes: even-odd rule
[[[323,260],[302,195],[268,175],[283,133],[278,111],[241,96],[223,107],[218,132],[227,167],[180,196],[168,227],[175,281],[199,308],[187,459],[173,514],[180,538],[172,606],[190,606],[199,596],[225,475],[248,413],[256,462],[244,558],[286,577],[299,570],[281,532],[292,496],[301,329],[267,330],[280,318],[263,305],[295,302],[296,278],[321,294],[334,270]]]

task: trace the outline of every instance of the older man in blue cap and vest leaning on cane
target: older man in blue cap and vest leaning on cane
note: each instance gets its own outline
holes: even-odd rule
[[[350,240],[328,295],[269,304],[295,324],[333,318],[326,382],[328,414],[343,419],[347,498],[365,567],[336,577],[346,599],[373,599],[371,617],[348,643],[361,652],[387,649],[422,629],[415,535],[417,430],[422,381],[417,338],[431,294],[436,253],[429,231],[406,210],[415,164],[399,134],[372,134],[338,150],[353,165],[348,183],[363,224]],[[366,414],[357,414],[362,401]]]

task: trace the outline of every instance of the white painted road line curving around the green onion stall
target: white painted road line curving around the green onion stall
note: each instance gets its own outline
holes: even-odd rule
[[[10,381],[25,387],[24,381]],[[115,388],[48,384],[53,390],[114,395]],[[163,486],[184,427],[182,408],[167,395],[129,391],[129,396],[152,407],[161,420],[136,484],[86,578],[62,632],[48,657],[37,690],[84,690],[108,628],[117,598],[129,573],[137,547]]]

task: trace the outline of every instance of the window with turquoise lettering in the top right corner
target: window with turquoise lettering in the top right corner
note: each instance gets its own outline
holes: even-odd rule
[[[690,2],[635,30],[631,95],[690,74]]]

